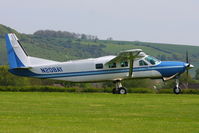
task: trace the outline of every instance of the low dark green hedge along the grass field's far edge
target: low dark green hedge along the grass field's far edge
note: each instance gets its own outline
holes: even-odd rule
[[[112,88],[79,88],[79,87],[55,87],[55,86],[0,86],[0,91],[12,92],[106,92],[112,93]],[[150,88],[129,88],[128,93],[154,93],[154,94],[171,94],[172,89],[150,89]],[[182,94],[199,94],[199,89],[183,89]]]

